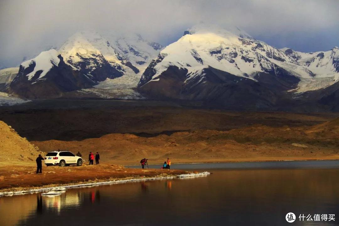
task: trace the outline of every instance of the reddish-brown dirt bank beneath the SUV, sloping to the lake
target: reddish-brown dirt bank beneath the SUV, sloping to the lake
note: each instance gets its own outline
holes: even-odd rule
[[[0,191],[187,173],[172,169],[130,169],[113,164],[68,167],[43,165],[41,174],[35,171],[35,166],[0,166]]]

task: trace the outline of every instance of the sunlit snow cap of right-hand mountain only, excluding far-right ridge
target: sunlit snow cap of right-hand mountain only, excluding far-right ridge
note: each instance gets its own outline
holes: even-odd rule
[[[273,71],[275,65],[295,66],[296,61],[283,51],[264,42],[243,38],[250,36],[240,29],[237,31],[204,24],[191,28],[189,33],[160,52],[162,59],[155,66],[157,74],[153,78],[157,79],[157,75],[171,65],[186,68],[192,75],[213,67],[250,79],[258,72]],[[301,76],[310,77],[307,71]]]

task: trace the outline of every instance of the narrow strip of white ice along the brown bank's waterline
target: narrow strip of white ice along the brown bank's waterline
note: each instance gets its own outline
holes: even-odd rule
[[[0,192],[0,198],[6,196],[27,194],[27,193],[39,193],[39,192],[48,192],[48,191],[65,191],[67,189],[72,188],[80,188],[80,187],[91,187],[91,186],[99,186],[99,185],[107,185],[107,184],[122,184],[122,183],[131,183],[138,181],[152,181],[152,180],[164,180],[164,179],[175,179],[175,178],[191,178],[191,177],[201,177],[208,176],[210,172],[199,172],[199,173],[184,173],[179,175],[168,175],[166,177],[146,177],[146,178],[138,178],[138,179],[121,179],[121,180],[108,180],[108,181],[100,181],[95,183],[76,183],[76,184],[68,184],[64,186],[51,186],[51,187],[40,187],[40,188],[28,188],[28,190],[18,190],[18,191],[5,191]]]

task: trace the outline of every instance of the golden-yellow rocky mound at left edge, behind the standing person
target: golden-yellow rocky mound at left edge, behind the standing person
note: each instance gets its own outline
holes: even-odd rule
[[[20,137],[11,126],[0,121],[0,162],[35,163],[39,153],[38,147]]]

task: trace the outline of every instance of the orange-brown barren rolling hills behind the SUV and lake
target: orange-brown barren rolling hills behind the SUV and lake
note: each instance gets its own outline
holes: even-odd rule
[[[331,122],[321,126],[326,127]],[[56,149],[100,152],[102,161],[138,164],[141,158],[149,163],[217,161],[265,161],[338,159],[339,136],[329,132],[311,132],[314,126],[271,127],[254,125],[228,131],[196,130],[158,135],[151,138],[112,133],[82,141],[33,141],[42,151]]]

